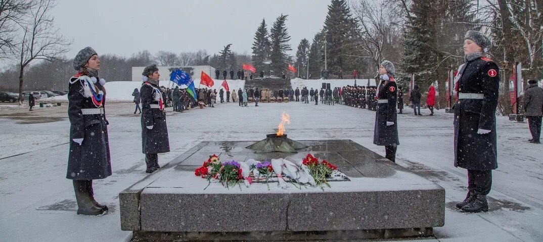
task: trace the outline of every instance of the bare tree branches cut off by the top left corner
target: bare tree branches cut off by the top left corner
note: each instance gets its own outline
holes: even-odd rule
[[[0,60],[13,58],[17,24],[32,6],[28,0],[0,0]]]

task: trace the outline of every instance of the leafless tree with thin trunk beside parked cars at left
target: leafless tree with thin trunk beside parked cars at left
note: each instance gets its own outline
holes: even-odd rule
[[[20,40],[16,51],[20,58],[19,67],[19,103],[23,100],[23,74],[35,60],[53,61],[60,59],[72,43],[59,34],[53,26],[53,17],[49,11],[55,7],[54,0],[37,0],[30,8],[28,19],[21,26]]]

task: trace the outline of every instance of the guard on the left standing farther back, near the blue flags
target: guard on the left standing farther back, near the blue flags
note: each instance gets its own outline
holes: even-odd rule
[[[141,85],[142,152],[147,164],[146,173],[160,169],[159,153],[169,152],[168,127],[162,92],[159,88],[159,68],[151,65],[143,69]]]

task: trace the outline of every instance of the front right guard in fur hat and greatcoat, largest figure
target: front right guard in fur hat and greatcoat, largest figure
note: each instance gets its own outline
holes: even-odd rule
[[[484,56],[488,36],[468,31],[464,37],[465,63],[454,78],[458,101],[454,104],[454,167],[468,170],[468,194],[457,208],[488,211],[487,194],[492,170],[498,168],[496,107],[500,69]]]

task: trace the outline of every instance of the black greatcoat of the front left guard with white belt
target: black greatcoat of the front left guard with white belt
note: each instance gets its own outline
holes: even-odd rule
[[[70,119],[70,154],[67,179],[95,180],[111,175],[111,157],[108,140],[108,120],[105,114],[83,115],[81,109],[97,109],[91,97],[85,97],[84,83],[90,78],[75,75],[68,85],[68,118]],[[99,90],[102,86],[97,82]],[[96,89],[95,89],[96,90]],[[105,97],[103,105],[105,105]],[[79,145],[73,139],[83,138]]]

